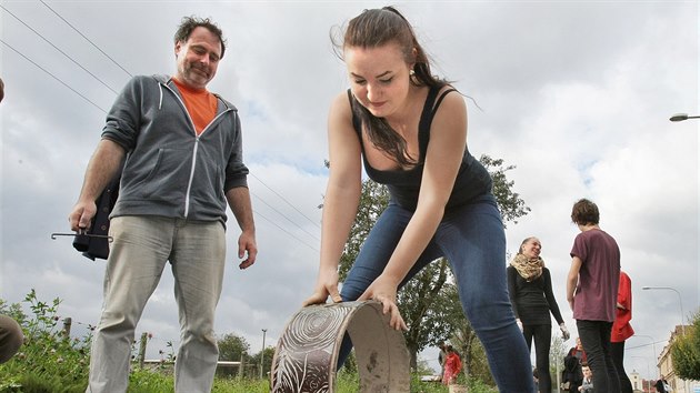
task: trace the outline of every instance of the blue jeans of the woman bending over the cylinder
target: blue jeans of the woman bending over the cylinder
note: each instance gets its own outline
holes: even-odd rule
[[[393,203],[382,212],[342,284],[343,301],[357,300],[381,274],[412,214]],[[532,392],[530,354],[508,296],[503,223],[491,194],[446,213],[403,283],[441,256],[452,266],[462,310],[483,344],[499,390]],[[351,345],[346,336],[340,364]]]

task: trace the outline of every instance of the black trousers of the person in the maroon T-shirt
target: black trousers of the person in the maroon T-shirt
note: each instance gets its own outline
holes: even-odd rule
[[[612,361],[610,331],[612,322],[577,320],[579,337],[593,373],[596,393],[620,393],[620,380]]]

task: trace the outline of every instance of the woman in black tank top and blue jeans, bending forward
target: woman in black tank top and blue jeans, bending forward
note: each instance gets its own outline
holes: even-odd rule
[[[444,256],[499,390],[532,392],[528,349],[508,298],[503,224],[489,173],[467,149],[463,98],[432,75],[411,26],[392,7],[352,19],[338,47],[351,87],[330,109],[320,268],[304,304],[373,299],[391,326],[406,330],[398,288]],[[391,200],[339,293],[338,263],[360,201],[362,163]],[[349,349],[346,342],[341,362]]]

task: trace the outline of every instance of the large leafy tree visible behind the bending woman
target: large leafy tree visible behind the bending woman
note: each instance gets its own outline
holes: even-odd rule
[[[512,191],[513,181],[509,181],[506,172],[514,165],[503,167],[502,159],[491,159],[482,155],[479,161],[487,168],[493,179],[493,194],[497,198],[503,222],[516,222],[528,214],[530,208],[524,204],[520,195]],[[326,163],[327,167],[329,163]],[[374,222],[389,203],[389,192],[386,187],[366,180],[362,183],[362,194],[356,222],[346,243],[339,264],[339,278],[343,281],[352,266],[364,239],[373,228]],[[504,261],[503,261],[504,263]],[[471,337],[462,355],[471,362],[472,355],[478,355],[478,346],[472,345],[473,332],[463,316],[457,290],[452,283],[449,263],[440,259],[426,266],[413,280],[409,281],[398,293],[398,304],[409,331],[404,333],[407,346],[411,353],[411,367],[417,370],[417,355],[428,345],[437,345],[449,339],[453,332],[462,331],[466,337]],[[477,341],[478,342],[478,341]],[[464,349],[462,349],[463,351]],[[476,351],[476,352],[472,352]],[[481,350],[482,353],[483,350]],[[474,361],[474,364],[478,362]],[[472,366],[471,364],[468,364]],[[472,366],[473,367],[473,366]],[[486,375],[490,379],[488,366]]]

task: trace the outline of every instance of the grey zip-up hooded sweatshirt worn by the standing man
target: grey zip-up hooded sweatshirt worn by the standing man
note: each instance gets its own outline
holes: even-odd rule
[[[107,115],[102,138],[127,151],[110,214],[226,223],[226,192],[248,187],[238,110],[218,97],[214,119],[197,135],[170,77],[134,77]]]

